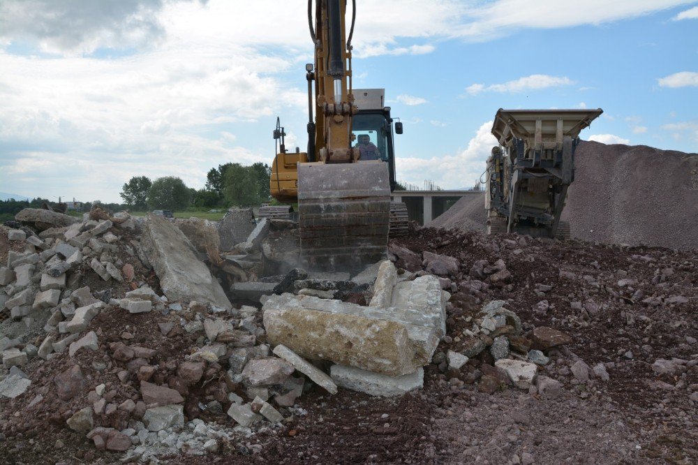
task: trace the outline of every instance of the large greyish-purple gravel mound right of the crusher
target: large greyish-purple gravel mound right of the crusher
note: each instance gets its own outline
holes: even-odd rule
[[[563,220],[598,242],[698,248],[698,154],[581,142]]]

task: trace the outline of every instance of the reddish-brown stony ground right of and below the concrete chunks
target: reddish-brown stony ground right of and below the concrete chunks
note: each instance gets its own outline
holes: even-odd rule
[[[498,392],[477,389],[478,372],[492,362],[487,353],[460,372],[436,364],[426,368],[424,390],[402,399],[374,399],[341,390],[329,396],[317,387],[298,399],[295,415],[283,429],[266,429],[224,445],[221,455],[177,456],[175,463],[535,463],[636,464],[698,461],[698,409],[690,395],[698,390],[698,253],[649,247],[618,247],[584,242],[540,242],[510,235],[486,237],[474,232],[411,230],[396,242],[420,253],[432,251],[461,261],[461,276],[447,321],[448,337],[439,352],[459,349],[465,319],[482,302],[508,300],[524,332],[547,325],[572,336],[572,344],[553,350],[542,374],[563,383],[556,399],[502,383]],[[0,255],[3,253],[0,250]],[[5,252],[6,253],[6,252]],[[507,286],[468,291],[468,270],[476,260],[502,259],[512,273]],[[668,271],[671,269],[671,271]],[[560,271],[569,272],[560,276]],[[664,276],[659,279],[655,276]],[[621,279],[633,279],[632,284]],[[656,281],[656,282],[653,282]],[[660,282],[661,281],[661,282]],[[536,284],[552,289],[538,295]],[[669,303],[669,297],[685,302]],[[650,303],[643,300],[655,298]],[[547,311],[536,311],[542,300]],[[573,302],[581,302],[581,309]],[[119,313],[121,314],[121,313]],[[158,348],[163,364],[191,343],[184,334],[163,338],[156,312],[114,320],[105,312],[91,327],[114,340],[132,331],[142,346]],[[128,325],[128,327],[126,327]],[[102,340],[102,339],[101,339]],[[170,346],[165,346],[170,344]],[[83,353],[80,357],[94,357]],[[658,358],[680,359],[673,376],[655,374]],[[570,365],[606,364],[609,381],[580,383]],[[95,360],[82,360],[89,365]],[[65,362],[65,360],[63,360]],[[47,379],[60,359],[27,368]],[[54,367],[56,365],[56,367]],[[42,370],[46,376],[32,371]],[[91,383],[98,374],[89,371]],[[107,369],[104,376],[115,376]],[[100,379],[99,382],[104,382]],[[114,381],[114,385],[118,385]],[[114,463],[119,455],[98,452],[69,431],[52,401],[34,409],[27,404],[50,383],[38,381],[31,392],[0,402],[0,463]],[[35,392],[36,390],[36,392]],[[130,392],[117,392],[118,399]],[[694,396],[695,397],[695,396]],[[209,418],[227,422],[223,415]],[[60,440],[59,443],[57,441]]]

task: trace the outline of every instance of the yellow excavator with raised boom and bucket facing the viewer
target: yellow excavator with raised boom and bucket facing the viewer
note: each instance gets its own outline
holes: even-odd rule
[[[391,216],[406,230],[404,205],[391,212],[393,121],[383,89],[352,89],[355,0],[352,7],[347,37],[347,0],[308,1],[315,63],[306,65],[307,151],[286,150],[278,119],[274,130],[271,193],[298,202],[302,263],[313,270],[362,270],[385,258]],[[402,124],[394,126],[401,134]]]

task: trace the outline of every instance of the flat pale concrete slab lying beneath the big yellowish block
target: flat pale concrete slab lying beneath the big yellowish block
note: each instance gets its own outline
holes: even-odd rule
[[[407,392],[422,389],[424,385],[424,369],[422,367],[419,367],[414,373],[393,377],[356,367],[332,365],[330,374],[332,381],[341,388],[365,392],[371,396],[401,396]]]

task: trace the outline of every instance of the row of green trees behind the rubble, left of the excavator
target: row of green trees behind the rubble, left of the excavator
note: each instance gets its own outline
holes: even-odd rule
[[[225,163],[211,168],[204,189],[187,187],[179,177],[158,177],[151,181],[134,176],[121,190],[124,204],[136,211],[145,209],[182,210],[187,207],[251,207],[269,202],[269,177],[272,168],[266,163],[244,166]]]

